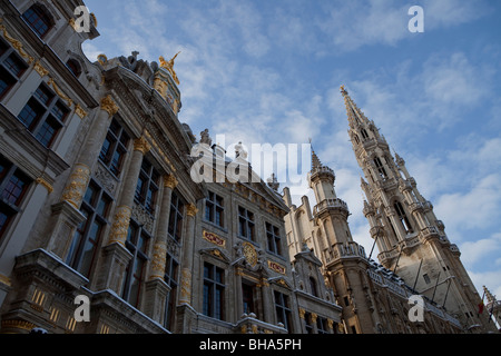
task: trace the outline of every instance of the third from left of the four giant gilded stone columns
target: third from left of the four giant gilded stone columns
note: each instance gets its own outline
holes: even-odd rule
[[[165,283],[165,267],[167,256],[167,229],[170,215],[170,199],[173,190],[177,186],[174,175],[164,177],[164,195],[160,205],[160,216],[158,218],[157,236],[153,248],[151,267],[149,278],[146,283],[146,306],[145,313],[154,320],[163,324],[165,307],[170,287]]]

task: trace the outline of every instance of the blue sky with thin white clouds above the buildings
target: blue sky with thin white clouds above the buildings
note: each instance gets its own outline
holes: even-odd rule
[[[307,144],[336,172],[354,239],[372,247],[340,86],[432,201],[478,289],[501,297],[501,3],[461,0],[87,0],[91,61],[178,51],[195,134],[226,145]],[[424,32],[411,33],[412,6]],[[266,177],[264,177],[266,178]],[[284,186],[284,185],[283,185]],[[282,186],[282,187],[283,187]],[[295,201],[313,194],[293,187]],[[298,202],[299,204],[299,202]],[[480,291],[482,294],[482,291]]]

